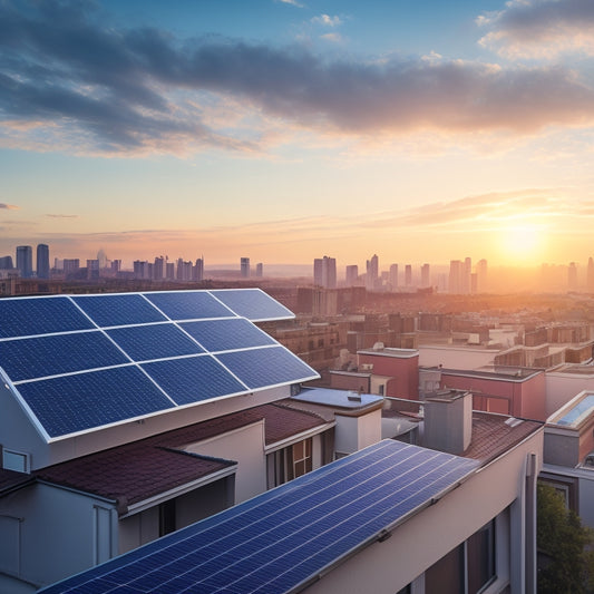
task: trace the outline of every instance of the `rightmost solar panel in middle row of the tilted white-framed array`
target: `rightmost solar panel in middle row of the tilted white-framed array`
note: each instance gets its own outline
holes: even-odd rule
[[[269,334],[243,318],[183,322],[179,325],[211,352],[276,343]]]

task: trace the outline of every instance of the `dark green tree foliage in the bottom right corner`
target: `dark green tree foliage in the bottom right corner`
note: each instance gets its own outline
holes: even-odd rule
[[[538,594],[594,592],[594,532],[551,486],[538,484]]]

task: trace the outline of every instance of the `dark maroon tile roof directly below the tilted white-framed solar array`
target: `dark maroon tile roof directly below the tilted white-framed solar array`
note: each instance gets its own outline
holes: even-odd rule
[[[264,420],[266,445],[328,422],[314,412],[294,410],[282,402],[262,405],[49,466],[35,471],[33,475],[12,473],[16,477],[11,477],[8,475],[10,471],[3,473],[7,473],[7,485],[10,479],[22,483],[22,477],[27,477],[28,480],[37,477],[40,480],[116,500],[125,512],[128,505],[236,464],[232,460],[189,454],[183,448],[260,420]],[[2,476],[0,475],[0,494]]]

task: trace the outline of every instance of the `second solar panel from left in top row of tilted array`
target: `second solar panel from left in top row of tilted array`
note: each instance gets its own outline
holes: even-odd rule
[[[80,295],[72,300],[99,327],[163,322],[159,313],[143,295],[136,293],[111,295]]]

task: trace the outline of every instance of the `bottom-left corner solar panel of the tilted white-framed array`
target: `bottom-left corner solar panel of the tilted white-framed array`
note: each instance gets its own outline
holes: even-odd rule
[[[50,437],[173,408],[136,367],[20,383],[18,390]]]

